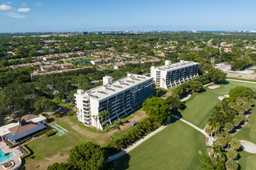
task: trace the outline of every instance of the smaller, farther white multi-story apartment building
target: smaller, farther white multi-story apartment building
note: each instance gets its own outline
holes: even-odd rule
[[[166,60],[164,66],[151,66],[150,76],[154,78],[155,86],[168,89],[195,79],[199,71],[199,63],[183,61],[172,63]]]

